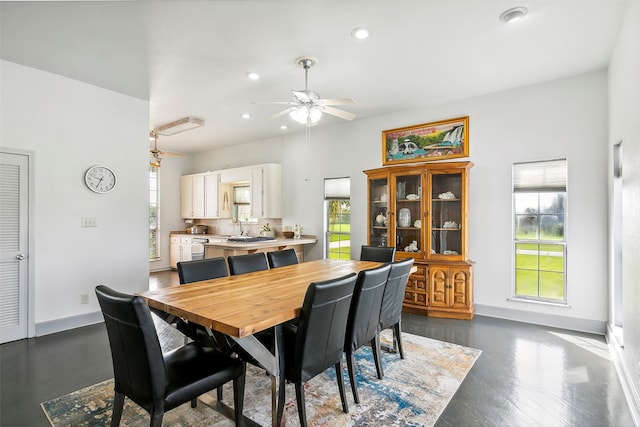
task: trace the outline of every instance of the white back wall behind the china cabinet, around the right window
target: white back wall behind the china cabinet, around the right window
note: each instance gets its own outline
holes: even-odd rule
[[[428,96],[428,94],[425,94]],[[283,224],[322,240],[323,179],[350,176],[352,257],[366,243],[365,169],[381,166],[381,131],[469,115],[470,257],[479,313],[604,332],[607,321],[607,74],[589,73],[446,105],[403,111],[199,154],[193,172],[277,162]],[[567,158],[568,307],[508,301],[511,165]],[[322,244],[307,254],[322,257]],[[565,319],[565,320],[563,320]],[[569,320],[566,320],[569,319]]]

